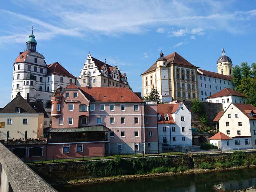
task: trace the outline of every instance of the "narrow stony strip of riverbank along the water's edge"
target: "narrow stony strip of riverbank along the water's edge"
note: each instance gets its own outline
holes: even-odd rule
[[[189,169],[182,172],[166,172],[166,173],[154,173],[154,174],[140,174],[140,175],[122,175],[122,176],[113,176],[113,177],[102,177],[102,178],[89,178],[89,179],[76,179],[65,182],[55,182],[50,183],[52,186],[54,185],[81,185],[86,183],[102,183],[102,182],[110,182],[110,181],[122,181],[122,180],[132,180],[132,179],[145,179],[149,177],[161,177],[161,176],[172,176],[172,175],[183,175],[183,174],[194,174],[194,173],[210,173],[210,172],[218,172],[218,171],[228,171],[228,170],[236,170],[236,169],[246,169],[246,168],[255,168],[255,165],[250,166],[239,166],[239,167],[231,167],[231,168],[217,168],[217,169]]]

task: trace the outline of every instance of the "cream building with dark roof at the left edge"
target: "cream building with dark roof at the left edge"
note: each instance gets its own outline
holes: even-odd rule
[[[29,98],[29,96],[28,96]],[[40,138],[43,129],[50,127],[50,118],[43,105],[15,97],[0,111],[0,139]]]

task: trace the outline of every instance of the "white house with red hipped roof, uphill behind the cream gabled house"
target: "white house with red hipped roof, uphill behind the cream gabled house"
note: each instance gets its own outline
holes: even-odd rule
[[[224,111],[231,103],[244,103],[248,96],[230,88],[224,88],[221,91],[206,98],[210,103],[222,103]]]

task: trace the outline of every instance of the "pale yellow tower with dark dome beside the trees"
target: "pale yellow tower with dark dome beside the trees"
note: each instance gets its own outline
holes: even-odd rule
[[[222,56],[217,61],[217,69],[219,74],[232,76],[232,61],[230,57],[226,56],[224,49],[222,49]]]

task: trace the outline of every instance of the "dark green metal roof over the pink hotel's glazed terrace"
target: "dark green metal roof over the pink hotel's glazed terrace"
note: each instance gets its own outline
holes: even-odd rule
[[[45,133],[59,133],[59,132],[92,132],[92,131],[111,131],[104,125],[101,126],[88,126],[79,128],[50,128],[45,130]]]

